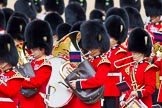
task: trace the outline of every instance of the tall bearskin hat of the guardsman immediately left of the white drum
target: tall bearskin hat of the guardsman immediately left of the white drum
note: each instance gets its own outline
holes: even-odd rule
[[[51,54],[53,39],[52,30],[48,22],[34,20],[28,23],[24,36],[28,49],[44,48],[46,55]]]

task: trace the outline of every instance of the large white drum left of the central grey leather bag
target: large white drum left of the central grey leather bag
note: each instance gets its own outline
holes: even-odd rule
[[[52,65],[52,73],[47,84],[47,100],[49,107],[63,107],[72,99],[73,93],[67,90],[67,85],[64,79],[60,76],[59,70],[65,60],[62,57],[49,58]]]

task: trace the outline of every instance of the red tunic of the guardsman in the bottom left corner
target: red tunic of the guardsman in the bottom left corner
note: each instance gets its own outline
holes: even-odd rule
[[[7,80],[15,75],[13,70],[8,71],[5,74],[0,75],[0,80]],[[17,94],[19,93],[22,79],[14,78],[8,80],[6,85],[0,84],[0,106],[1,108],[16,108],[17,106]],[[13,101],[13,102],[10,102]]]

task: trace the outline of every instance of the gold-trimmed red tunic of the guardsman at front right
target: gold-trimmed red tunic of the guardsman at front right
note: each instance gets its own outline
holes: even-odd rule
[[[138,94],[138,96],[141,98],[142,102],[148,108],[152,108],[152,94],[155,91],[156,71],[157,67],[149,64],[145,60],[139,62],[136,66],[130,65],[125,68],[127,77],[125,77],[124,80],[131,88],[131,90],[126,92],[126,99],[129,97],[131,91],[138,91],[141,94]],[[133,82],[134,84],[132,84]]]

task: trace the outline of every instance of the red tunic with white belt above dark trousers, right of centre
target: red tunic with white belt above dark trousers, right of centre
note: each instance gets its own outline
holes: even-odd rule
[[[122,77],[122,75],[121,76],[119,75],[122,72],[121,70],[122,68],[115,67],[114,62],[119,59],[125,58],[125,57],[127,57],[127,51],[121,45],[113,47],[111,48],[111,50],[107,52],[107,58],[111,62],[111,67],[110,67],[111,69],[109,71],[109,73],[111,74],[107,75],[107,79],[104,84],[105,85],[104,96],[120,96],[121,95],[119,89],[116,86],[116,83],[119,83],[119,81],[121,80],[120,78]],[[115,63],[115,64],[117,66],[121,66],[121,65],[124,65],[126,61],[127,60],[121,60],[120,62]]]

